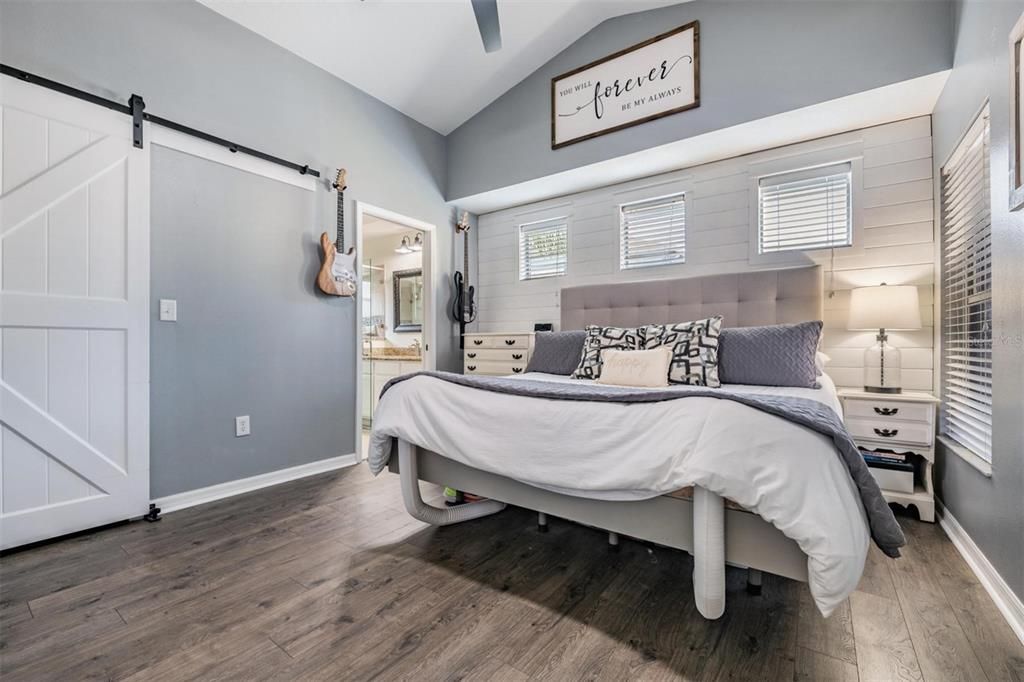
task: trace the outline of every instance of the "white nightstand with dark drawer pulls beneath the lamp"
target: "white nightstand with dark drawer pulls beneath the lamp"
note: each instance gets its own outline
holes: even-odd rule
[[[931,393],[868,393],[841,390],[846,428],[861,450],[891,451],[914,462],[913,493],[882,488],[886,501],[918,508],[922,521],[935,522],[935,418],[939,399]]]

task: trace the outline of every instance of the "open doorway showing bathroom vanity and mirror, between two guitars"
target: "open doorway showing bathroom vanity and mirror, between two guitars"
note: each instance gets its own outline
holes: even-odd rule
[[[433,226],[356,203],[360,287],[356,357],[360,457],[381,389],[394,377],[432,369]]]

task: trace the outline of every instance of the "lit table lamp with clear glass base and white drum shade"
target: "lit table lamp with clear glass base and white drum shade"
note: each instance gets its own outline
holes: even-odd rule
[[[913,286],[859,287],[850,295],[849,330],[874,331],[878,343],[864,351],[864,390],[899,393],[900,352],[889,345],[887,331],[921,329],[918,288]]]

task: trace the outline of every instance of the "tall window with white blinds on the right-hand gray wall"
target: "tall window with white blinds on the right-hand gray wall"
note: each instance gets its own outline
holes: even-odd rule
[[[941,432],[992,461],[988,108],[942,168]]]

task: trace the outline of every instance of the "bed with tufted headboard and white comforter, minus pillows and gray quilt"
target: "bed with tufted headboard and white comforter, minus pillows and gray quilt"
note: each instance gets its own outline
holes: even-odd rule
[[[710,314],[726,327],[820,319],[821,292],[818,267],[578,287],[562,290],[561,329]],[[573,380],[505,381],[555,390]],[[795,391],[840,410],[827,377],[818,389],[723,388]],[[855,485],[830,449],[821,433],[732,400],[558,402],[416,376],[382,396],[370,465],[398,473],[407,509],[431,523],[509,503],[539,512],[542,526],[554,516],[605,529],[612,544],[623,535],[689,552],[694,598],[708,619],[724,612],[726,563],[749,568],[754,587],[760,571],[809,582],[827,615],[855,589],[870,542]],[[419,480],[487,500],[433,508]]]

